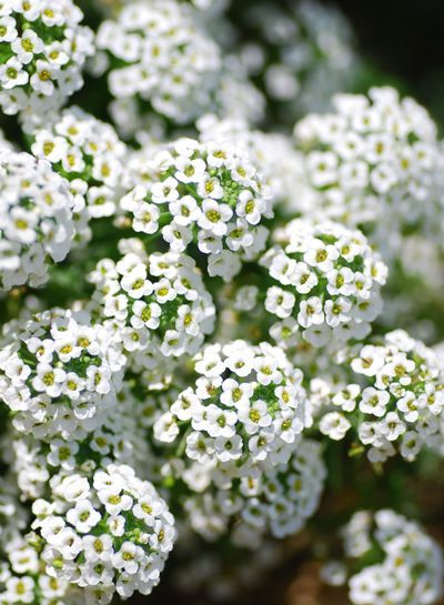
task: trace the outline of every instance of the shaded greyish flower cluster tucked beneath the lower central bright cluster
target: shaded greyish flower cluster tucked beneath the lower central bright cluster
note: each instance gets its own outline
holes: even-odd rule
[[[325,480],[320,444],[302,441],[289,464],[245,475],[230,487],[192,495],[184,504],[191,527],[208,541],[230,534],[244,548],[259,548],[271,535],[297,533],[317,508]],[[190,488],[198,482],[189,477]]]

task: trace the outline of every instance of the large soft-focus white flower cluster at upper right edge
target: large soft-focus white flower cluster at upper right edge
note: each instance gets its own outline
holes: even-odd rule
[[[426,110],[391,88],[373,88],[369,97],[337,94],[333,107],[294,130],[319,195],[314,214],[364,228],[387,258],[415,223],[437,226],[441,238],[442,152]]]

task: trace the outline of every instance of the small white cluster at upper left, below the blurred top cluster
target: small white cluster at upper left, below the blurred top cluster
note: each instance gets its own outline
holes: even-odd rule
[[[110,124],[73,107],[33,132],[31,150],[68,179],[79,195],[84,195],[90,216],[114,214],[124,191],[127,147]]]

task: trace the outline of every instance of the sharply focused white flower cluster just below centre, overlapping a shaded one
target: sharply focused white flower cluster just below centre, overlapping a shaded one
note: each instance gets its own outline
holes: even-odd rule
[[[268,343],[211,344],[195,356],[195,386],[185,389],[154,424],[161,443],[184,440],[186,458],[245,476],[285,463],[310,404],[302,372]]]

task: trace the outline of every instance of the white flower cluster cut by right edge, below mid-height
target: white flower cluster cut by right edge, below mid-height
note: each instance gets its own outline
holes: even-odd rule
[[[323,434],[341,440],[353,427],[372,462],[396,451],[413,461],[424,446],[441,444],[444,372],[431,349],[396,330],[365,344],[351,369],[361,383],[332,397],[336,410],[321,420]]]

